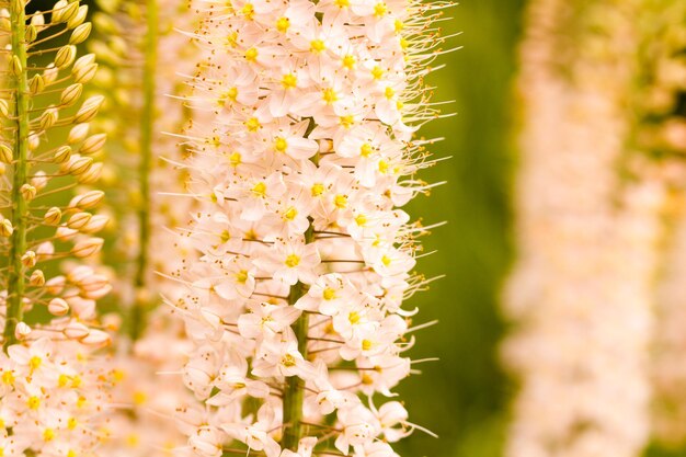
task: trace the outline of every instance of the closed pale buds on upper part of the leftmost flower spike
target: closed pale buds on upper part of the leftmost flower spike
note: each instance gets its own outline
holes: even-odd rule
[[[103,343],[105,334],[82,321],[94,318],[94,300],[110,289],[106,281],[88,267],[46,277],[55,270],[50,266],[55,261],[95,255],[103,240],[93,235],[107,224],[105,216],[93,212],[103,192],[85,190],[71,201],[64,198],[73,195],[70,190],[76,185],[93,183],[102,170],[95,158],[105,138],[91,134],[89,123],[103,99],[93,96],[78,104],[83,84],[96,68],[93,55],[77,58],[77,45],[91,30],[84,22],[88,9],[78,1],[58,1],[46,20],[47,13],[26,16],[23,1],[5,3],[0,10],[1,34],[10,42],[2,52],[7,69],[0,100],[4,126],[0,252],[9,259],[0,286],[8,318],[5,345],[27,338],[31,329],[22,315],[36,307],[61,318],[53,330],[62,336]],[[69,33],[68,44],[50,47],[65,33]],[[49,65],[30,64],[49,53],[54,54]],[[60,130],[67,130],[61,146],[47,141]],[[62,266],[72,269],[66,262]],[[65,327],[65,316],[75,322]],[[73,325],[84,330],[67,330]]]

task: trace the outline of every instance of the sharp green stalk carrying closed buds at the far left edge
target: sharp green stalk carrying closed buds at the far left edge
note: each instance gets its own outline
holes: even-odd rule
[[[26,252],[26,231],[28,202],[24,199],[21,188],[26,184],[27,156],[28,156],[28,78],[26,75],[26,13],[23,1],[12,1],[10,7],[10,22],[12,24],[12,59],[11,68],[19,71],[10,71],[13,78],[14,110],[12,123],[14,128],[13,167],[12,167],[12,215],[11,221],[14,231],[12,233],[8,278],[8,307],[4,323],[4,350],[16,343],[14,330],[23,318],[23,300],[25,294],[25,267],[22,264],[22,255]]]

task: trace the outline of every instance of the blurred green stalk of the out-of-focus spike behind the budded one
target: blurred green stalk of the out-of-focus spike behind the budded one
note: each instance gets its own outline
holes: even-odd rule
[[[150,247],[150,169],[152,163],[152,135],[155,132],[155,95],[157,70],[157,47],[159,32],[158,0],[147,0],[147,32],[145,43],[145,64],[142,69],[142,110],[140,113],[140,162],[138,179],[140,180],[140,207],[138,208],[138,260],[136,266],[135,286],[136,302],[132,308],[130,338],[135,341],[145,329],[147,302],[140,294],[146,287],[148,272],[148,251]]]

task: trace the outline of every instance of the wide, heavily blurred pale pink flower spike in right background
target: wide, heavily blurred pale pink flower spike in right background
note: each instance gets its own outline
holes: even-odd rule
[[[504,355],[522,384],[510,457],[631,457],[649,437],[648,355],[672,167],[641,142],[645,119],[634,114],[643,110],[633,108],[641,41],[655,43],[655,23],[647,33],[637,18],[651,3],[529,5],[518,80],[519,259],[505,295],[516,327]]]

